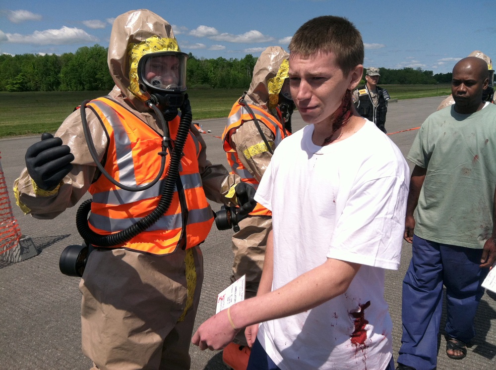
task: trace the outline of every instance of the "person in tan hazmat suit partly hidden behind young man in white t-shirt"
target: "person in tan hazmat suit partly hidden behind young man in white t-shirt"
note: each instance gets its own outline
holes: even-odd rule
[[[223,146],[232,173],[258,186],[272,153],[291,133],[294,103],[289,92],[289,54],[281,47],[265,49],[258,58],[248,92],[232,107],[223,134]],[[246,298],[256,295],[262,273],[267,236],[272,228],[271,212],[257,204],[239,221],[233,234],[233,274],[236,281],[246,274]],[[242,330],[223,352],[224,363],[235,370],[246,369],[249,348]]]

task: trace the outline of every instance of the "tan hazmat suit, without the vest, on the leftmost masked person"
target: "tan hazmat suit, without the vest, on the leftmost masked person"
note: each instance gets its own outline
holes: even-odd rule
[[[174,39],[171,25],[149,10],[133,10],[116,18],[108,53],[116,85],[109,95],[162,135],[159,119],[138,97],[137,81],[130,81],[128,56],[129,46],[157,36]],[[97,156],[103,160],[106,132],[99,117],[90,109],[85,111]],[[222,165],[212,165],[201,134],[194,127],[191,131],[202,146],[193,160],[198,161],[207,198],[232,205],[224,194],[239,178]],[[100,176],[88,151],[79,109],[64,120],[55,136],[62,138],[75,158],[60,187],[51,192],[33,187],[26,169],[14,183],[18,205],[37,218],[51,219],[74,206]],[[178,248],[163,257],[124,249],[93,251],[79,284],[82,350],[94,362],[93,369],[189,369],[188,350],[202,281],[198,246],[186,251]]]

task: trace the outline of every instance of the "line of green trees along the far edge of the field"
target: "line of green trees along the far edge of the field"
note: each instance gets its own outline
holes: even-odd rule
[[[107,65],[108,49],[100,45],[75,53],[0,55],[0,91],[111,90],[114,81]],[[196,58],[189,53],[188,88],[248,89],[257,58]],[[420,68],[379,68],[379,84],[436,84],[451,82],[451,73],[433,74]]]

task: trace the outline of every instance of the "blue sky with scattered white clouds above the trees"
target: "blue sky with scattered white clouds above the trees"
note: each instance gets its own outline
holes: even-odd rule
[[[0,0],[0,53],[74,53],[108,47],[112,21],[147,8],[173,25],[183,52],[196,57],[259,56],[267,46],[287,49],[304,22],[344,16],[362,33],[365,67],[450,72],[474,50],[496,64],[494,0]]]

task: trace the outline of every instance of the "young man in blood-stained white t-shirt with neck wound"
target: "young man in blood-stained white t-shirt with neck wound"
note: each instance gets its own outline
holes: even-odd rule
[[[289,49],[291,93],[310,125],[280,144],[255,195],[273,220],[258,293],[192,342],[222,348],[251,325],[248,369],[394,369],[384,269],[399,266],[409,169],[353,107],[364,58],[353,24],[311,19]]]

